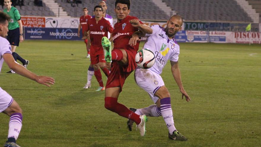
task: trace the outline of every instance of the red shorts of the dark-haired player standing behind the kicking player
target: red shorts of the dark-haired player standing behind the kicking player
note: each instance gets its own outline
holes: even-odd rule
[[[97,64],[99,62],[105,62],[104,59],[104,52],[102,46],[90,46],[90,57],[91,57],[91,64]]]

